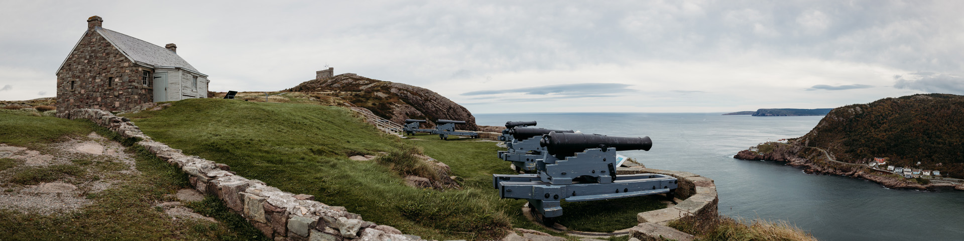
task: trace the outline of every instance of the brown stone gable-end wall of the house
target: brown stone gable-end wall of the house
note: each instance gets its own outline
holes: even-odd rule
[[[81,108],[123,111],[151,102],[153,89],[141,83],[144,70],[151,69],[134,66],[90,29],[57,72],[57,113]]]

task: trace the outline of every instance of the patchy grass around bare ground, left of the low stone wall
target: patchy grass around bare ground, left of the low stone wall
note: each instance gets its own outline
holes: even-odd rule
[[[30,123],[30,124],[18,124]],[[90,120],[63,120],[50,117],[24,117],[0,113],[0,141],[22,146],[42,146],[65,137],[77,137],[93,131],[109,138],[117,134],[95,126]],[[15,127],[16,131],[7,131]],[[32,133],[43,138],[23,137]],[[130,140],[119,140],[131,143]],[[249,235],[222,221],[173,222],[154,207],[157,201],[171,201],[166,195],[188,187],[187,176],[176,167],[157,159],[144,147],[128,147],[135,154],[136,168],[141,174],[128,175],[116,187],[85,197],[92,204],[76,212],[51,215],[24,214],[0,209],[0,239],[2,240],[264,240],[263,236]],[[55,165],[47,168],[24,169],[20,176],[24,183],[48,181],[59,176],[83,175],[81,167],[96,165],[77,159],[75,165]],[[24,174],[21,174],[24,173]],[[224,211],[219,211],[222,215]],[[218,217],[218,215],[212,215]],[[245,223],[247,224],[247,223]],[[255,230],[256,231],[256,230]],[[258,233],[259,234],[259,233]]]

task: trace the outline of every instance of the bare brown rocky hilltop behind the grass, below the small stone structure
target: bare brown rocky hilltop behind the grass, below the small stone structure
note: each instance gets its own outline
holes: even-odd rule
[[[406,119],[429,120],[423,128],[435,126],[435,120],[465,120],[456,128],[478,130],[469,109],[425,88],[365,78],[354,73],[335,76],[319,75],[288,92],[338,92],[338,97],[370,110],[382,118],[404,123]]]

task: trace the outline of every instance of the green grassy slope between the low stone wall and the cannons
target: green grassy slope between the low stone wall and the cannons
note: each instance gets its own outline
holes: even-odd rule
[[[438,140],[435,135],[403,140],[382,134],[341,107],[228,99],[186,99],[163,110],[126,115],[149,136],[185,153],[228,164],[231,171],[281,190],[314,195],[341,205],[366,221],[389,225],[425,239],[498,239],[511,228],[538,228],[525,220],[524,200],[500,200],[492,174],[512,174],[497,158],[493,142]],[[351,155],[388,152],[425,154],[447,164],[462,190],[438,191],[404,184],[394,165],[354,161]],[[404,159],[404,158],[396,158]],[[629,228],[635,214],[661,208],[656,199],[636,199],[631,208],[581,211],[586,228]],[[580,202],[576,202],[580,203]],[[598,208],[605,203],[586,208]],[[615,205],[625,205],[616,203]],[[605,209],[605,208],[603,208]],[[597,215],[597,216],[593,216]],[[563,221],[560,221],[562,223]]]

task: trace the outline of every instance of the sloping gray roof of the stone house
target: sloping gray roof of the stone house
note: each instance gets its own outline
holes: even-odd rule
[[[180,56],[177,56],[174,51],[162,46],[154,45],[145,40],[138,40],[137,38],[105,28],[96,28],[96,31],[113,43],[114,46],[117,46],[121,52],[131,59],[134,59],[135,62],[141,62],[155,67],[181,67],[195,72],[201,72],[192,67],[191,64],[188,64],[187,61],[184,61],[184,59],[181,59]]]

